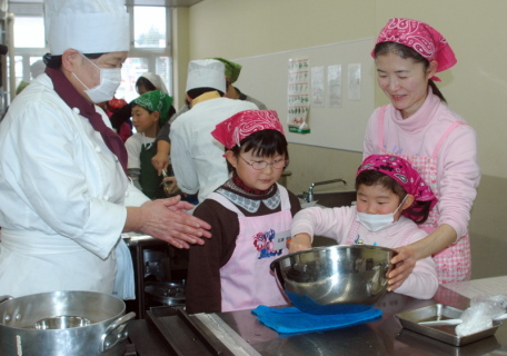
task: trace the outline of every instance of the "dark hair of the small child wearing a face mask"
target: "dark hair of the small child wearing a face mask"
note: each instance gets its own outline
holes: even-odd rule
[[[399,201],[402,201],[407,196],[407,191],[401,187],[394,178],[382,174],[378,170],[364,170],[356,177],[356,190],[358,190],[359,186],[367,186],[371,187],[375,185],[379,185],[386,189],[389,189],[394,194],[396,194],[399,198]],[[429,216],[429,208],[431,201],[417,201],[417,204],[412,204],[408,208],[408,214],[410,218],[416,224],[422,224]]]

